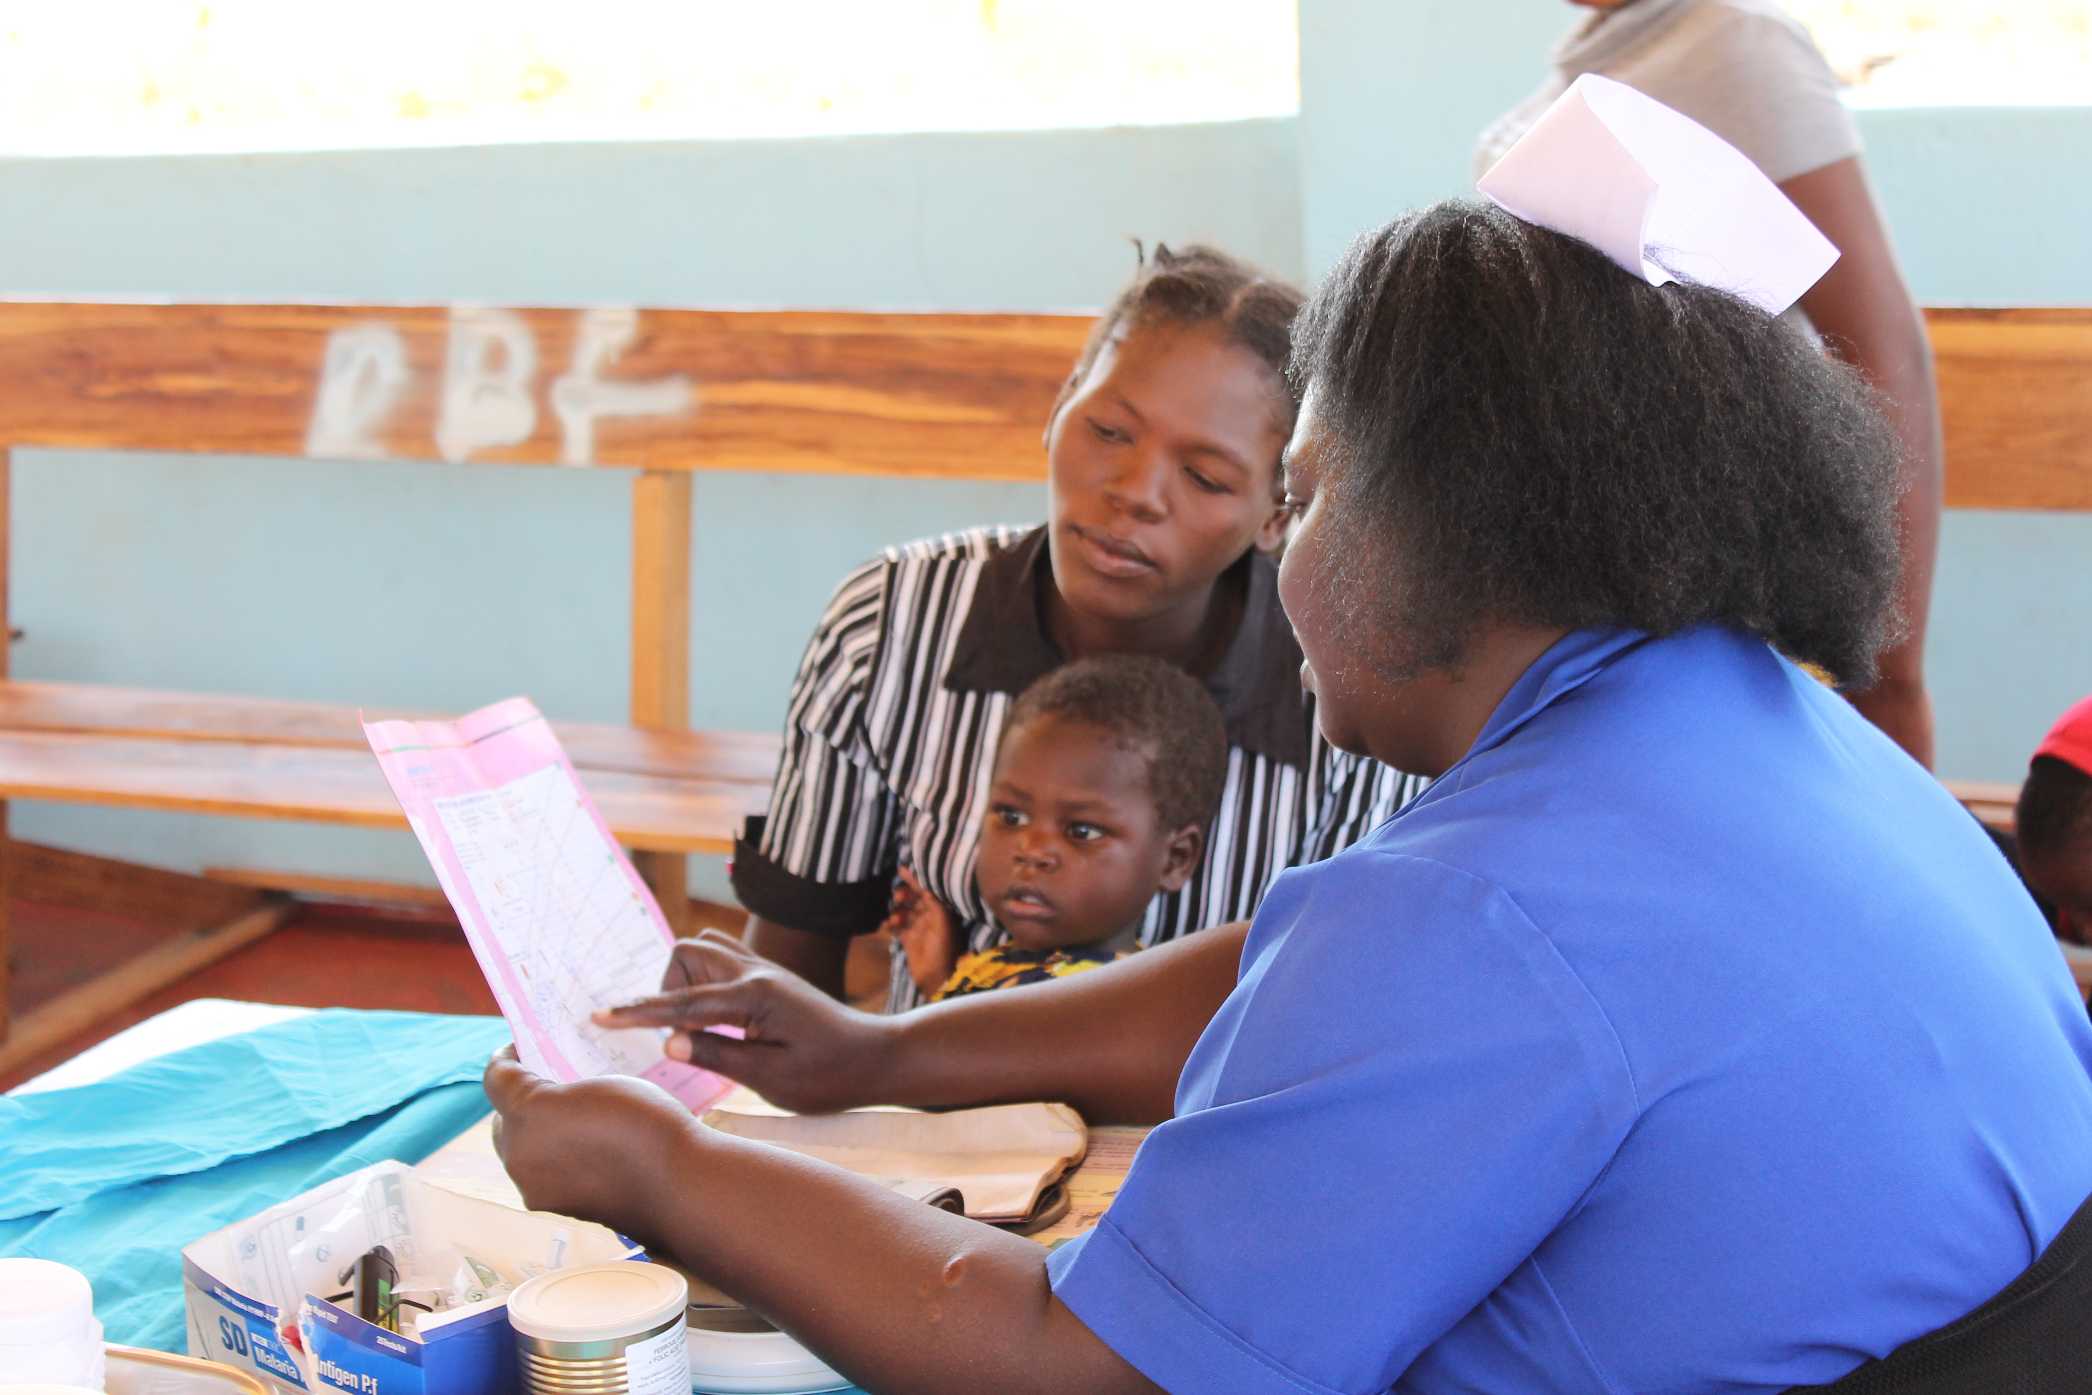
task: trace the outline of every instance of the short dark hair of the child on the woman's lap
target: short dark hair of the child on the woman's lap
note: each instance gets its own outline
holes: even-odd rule
[[[1149,757],[1149,795],[1163,828],[1201,828],[1228,784],[1228,728],[1197,678],[1146,655],[1096,655],[1025,688],[1002,730],[1038,717],[1098,726]]]

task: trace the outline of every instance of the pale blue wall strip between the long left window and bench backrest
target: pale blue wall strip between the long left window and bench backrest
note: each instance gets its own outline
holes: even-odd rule
[[[0,159],[0,287],[644,305],[1094,305],[1130,238],[1299,274],[1293,121]]]

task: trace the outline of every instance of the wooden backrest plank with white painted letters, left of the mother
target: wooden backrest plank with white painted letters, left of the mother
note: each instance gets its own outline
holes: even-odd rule
[[[1040,427],[1088,328],[15,301],[0,303],[0,445],[1040,479]]]

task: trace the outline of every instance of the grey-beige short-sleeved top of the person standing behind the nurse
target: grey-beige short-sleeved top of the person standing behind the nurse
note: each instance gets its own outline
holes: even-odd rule
[[[1646,92],[1780,184],[1860,153],[1860,128],[1816,40],[1774,0],[1630,0],[1579,21],[1554,77],[1481,134],[1475,178],[1584,73]]]

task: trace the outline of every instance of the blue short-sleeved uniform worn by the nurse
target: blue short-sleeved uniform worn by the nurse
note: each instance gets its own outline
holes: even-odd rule
[[[1052,1282],[1178,1393],[1826,1382],[2056,1236],[2088,1067],[1925,770],[1753,636],[1586,630],[1276,883]]]

